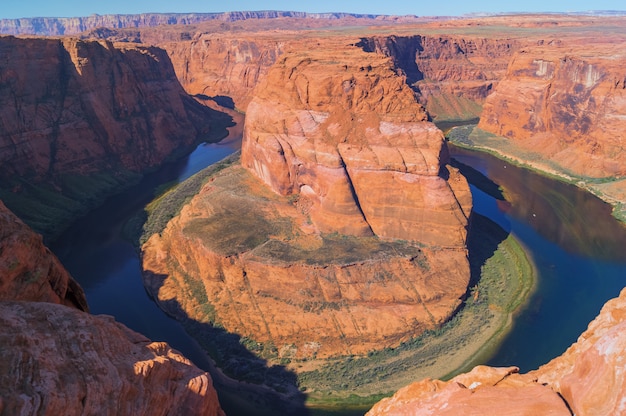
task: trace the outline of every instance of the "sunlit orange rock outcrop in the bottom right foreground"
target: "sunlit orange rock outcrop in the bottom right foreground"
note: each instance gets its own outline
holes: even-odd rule
[[[478,366],[448,382],[423,380],[383,399],[375,415],[621,415],[626,289],[563,355],[527,374]]]

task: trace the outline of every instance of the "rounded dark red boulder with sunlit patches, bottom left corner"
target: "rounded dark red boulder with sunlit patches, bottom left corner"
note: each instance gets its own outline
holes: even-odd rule
[[[210,376],[108,316],[0,302],[0,412],[223,415]]]

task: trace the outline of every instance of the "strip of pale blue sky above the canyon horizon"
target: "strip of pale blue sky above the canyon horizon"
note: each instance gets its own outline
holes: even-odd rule
[[[455,16],[471,12],[566,12],[626,10],[623,0],[1,0],[0,18],[70,17],[147,12],[223,12],[234,10],[290,10]]]

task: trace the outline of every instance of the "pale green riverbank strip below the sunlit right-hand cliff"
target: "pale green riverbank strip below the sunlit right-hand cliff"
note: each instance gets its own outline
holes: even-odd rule
[[[453,127],[446,137],[458,147],[486,152],[516,166],[578,186],[611,205],[613,216],[626,223],[626,178],[578,176],[538,153],[523,150],[511,140],[481,130],[476,125]]]

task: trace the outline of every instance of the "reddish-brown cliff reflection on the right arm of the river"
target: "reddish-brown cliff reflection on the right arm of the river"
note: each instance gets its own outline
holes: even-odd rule
[[[610,205],[576,186],[515,168],[492,156],[459,148],[451,152],[457,161],[500,184],[506,201],[500,202],[499,208],[528,223],[547,240],[580,256],[624,260],[626,226],[611,218]]]

